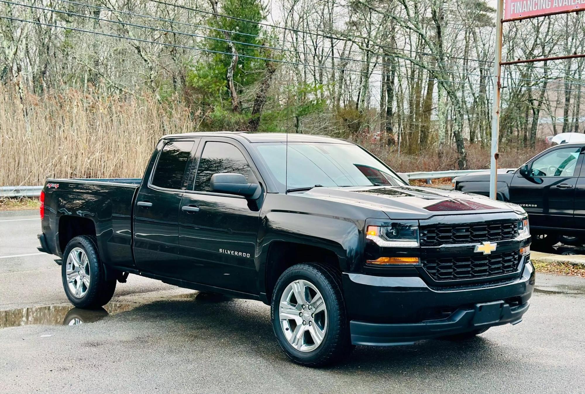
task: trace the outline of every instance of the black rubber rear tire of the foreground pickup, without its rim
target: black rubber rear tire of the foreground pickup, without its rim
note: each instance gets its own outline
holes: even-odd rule
[[[84,295],[77,297],[71,292],[67,282],[67,260],[71,250],[80,248],[87,255],[90,272],[90,285],[86,286]],[[82,309],[96,309],[106,305],[112,299],[116,290],[116,279],[106,281],[102,262],[99,258],[98,247],[95,237],[78,236],[74,237],[65,248],[63,262],[61,263],[61,282],[69,301],[76,307]]]

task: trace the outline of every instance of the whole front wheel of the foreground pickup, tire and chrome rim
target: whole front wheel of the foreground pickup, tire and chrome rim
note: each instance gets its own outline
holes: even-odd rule
[[[293,361],[319,367],[352,349],[339,272],[327,265],[296,264],[283,272],[271,302],[278,344]]]

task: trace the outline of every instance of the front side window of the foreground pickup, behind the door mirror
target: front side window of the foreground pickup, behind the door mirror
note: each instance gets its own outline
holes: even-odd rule
[[[242,152],[232,144],[215,141],[206,143],[197,167],[194,190],[210,192],[211,176],[224,172],[242,174],[248,181],[250,165]]]

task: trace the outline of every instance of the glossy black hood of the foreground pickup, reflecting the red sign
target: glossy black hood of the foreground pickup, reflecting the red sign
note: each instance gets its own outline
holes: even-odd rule
[[[465,213],[524,213],[520,206],[484,196],[418,186],[317,187],[302,195],[381,210],[390,219],[427,219]]]

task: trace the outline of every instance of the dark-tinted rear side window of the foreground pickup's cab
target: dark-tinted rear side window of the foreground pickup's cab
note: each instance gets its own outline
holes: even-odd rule
[[[184,190],[183,177],[194,144],[194,141],[166,143],[160,151],[150,184],[163,189]]]

